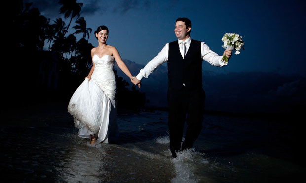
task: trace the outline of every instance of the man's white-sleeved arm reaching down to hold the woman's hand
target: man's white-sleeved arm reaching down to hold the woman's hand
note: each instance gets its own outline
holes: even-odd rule
[[[147,65],[139,71],[139,74],[132,80],[137,85],[140,83],[142,78],[148,78],[148,76],[161,64],[168,61],[168,50],[169,44],[167,43],[162,50],[154,57]]]

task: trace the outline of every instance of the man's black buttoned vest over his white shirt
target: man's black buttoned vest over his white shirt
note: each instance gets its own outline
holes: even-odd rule
[[[169,43],[168,79],[169,89],[186,89],[202,87],[201,42],[191,40],[188,52],[183,59],[178,41]]]

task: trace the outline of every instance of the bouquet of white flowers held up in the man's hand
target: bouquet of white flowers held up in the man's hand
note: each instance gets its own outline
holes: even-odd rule
[[[244,41],[242,41],[242,36],[239,36],[239,34],[236,33],[226,33],[222,37],[223,41],[223,48],[227,50],[236,50],[235,54],[238,55],[240,54],[239,50],[241,48],[244,50]],[[227,58],[225,55],[222,57],[222,60],[227,62],[229,58]]]

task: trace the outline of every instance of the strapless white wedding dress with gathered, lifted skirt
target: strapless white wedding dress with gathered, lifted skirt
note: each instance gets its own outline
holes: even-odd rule
[[[86,78],[76,89],[68,104],[74,117],[78,135],[82,138],[97,136],[97,142],[108,143],[118,137],[116,122],[116,81],[113,71],[115,58],[93,55],[95,68],[91,80]],[[114,138],[114,139],[113,139]]]

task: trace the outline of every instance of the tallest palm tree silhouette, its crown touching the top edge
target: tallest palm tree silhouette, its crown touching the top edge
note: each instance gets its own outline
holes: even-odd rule
[[[68,32],[72,19],[80,16],[79,12],[82,9],[83,3],[76,3],[76,0],[60,0],[58,3],[62,5],[60,8],[60,13],[64,14],[65,18],[68,18],[71,15],[69,24],[64,32],[65,36],[65,34]]]

